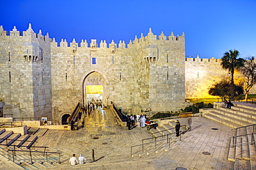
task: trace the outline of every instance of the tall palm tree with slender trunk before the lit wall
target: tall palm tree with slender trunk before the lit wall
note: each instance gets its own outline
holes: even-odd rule
[[[235,95],[235,87],[234,87],[234,72],[240,67],[244,66],[244,59],[237,59],[239,56],[239,52],[237,50],[229,50],[229,52],[225,52],[221,58],[221,67],[230,72],[230,94],[231,98],[234,98]]]

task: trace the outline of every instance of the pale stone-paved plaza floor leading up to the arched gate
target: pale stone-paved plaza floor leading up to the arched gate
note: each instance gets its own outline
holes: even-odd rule
[[[179,120],[188,125],[187,118]],[[141,147],[134,147],[132,157],[131,146],[152,137],[146,128],[128,130],[118,126],[109,109],[86,116],[85,122],[85,127],[78,131],[48,130],[37,140],[37,146],[62,152],[61,164],[44,169],[230,169],[227,151],[231,128],[204,117],[192,118],[192,131],[181,136],[181,140],[175,137],[170,147],[165,141],[157,145],[156,151],[151,144],[143,153]],[[68,159],[73,153],[77,158],[82,153],[86,164],[70,165]],[[12,162],[4,159],[0,162],[3,169],[8,164]]]

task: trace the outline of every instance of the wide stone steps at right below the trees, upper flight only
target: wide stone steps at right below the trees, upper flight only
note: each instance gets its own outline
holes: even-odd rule
[[[223,103],[214,103],[214,109],[201,110],[203,116],[228,127],[237,128],[256,124],[256,105],[234,102],[231,109],[222,107]]]

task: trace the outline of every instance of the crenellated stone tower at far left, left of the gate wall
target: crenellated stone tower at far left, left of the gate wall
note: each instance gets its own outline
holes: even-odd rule
[[[0,27],[0,98],[4,114],[51,118],[51,41],[31,27],[21,33]]]

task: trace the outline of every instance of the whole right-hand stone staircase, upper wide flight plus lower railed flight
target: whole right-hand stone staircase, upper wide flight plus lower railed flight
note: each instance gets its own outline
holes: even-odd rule
[[[214,109],[203,110],[203,116],[234,128],[228,143],[231,169],[256,169],[256,105],[234,102],[228,109],[214,104]]]

